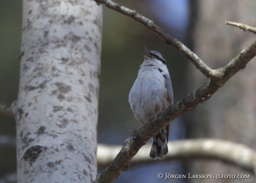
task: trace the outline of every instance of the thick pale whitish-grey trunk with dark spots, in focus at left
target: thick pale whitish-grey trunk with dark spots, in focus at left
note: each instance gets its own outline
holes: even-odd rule
[[[18,182],[93,182],[97,174],[102,8],[23,1]]]

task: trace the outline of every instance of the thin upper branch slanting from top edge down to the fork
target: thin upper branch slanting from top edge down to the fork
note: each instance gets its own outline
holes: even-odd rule
[[[196,68],[200,70],[206,77],[214,79],[215,72],[213,69],[209,68],[195,53],[191,52],[191,50],[186,47],[183,43],[181,43],[178,39],[172,37],[170,34],[166,33],[163,29],[156,26],[153,21],[142,16],[137,13],[135,10],[131,10],[124,6],[120,6],[117,3],[114,3],[110,0],[93,0],[97,3],[106,4],[106,6],[110,9],[113,9],[117,12],[125,14],[128,17],[133,18],[135,21],[140,22],[147,28],[151,29],[154,33],[156,33],[161,39],[165,40],[166,43],[173,45],[175,48],[179,50],[180,53],[184,54],[186,58],[188,58]]]

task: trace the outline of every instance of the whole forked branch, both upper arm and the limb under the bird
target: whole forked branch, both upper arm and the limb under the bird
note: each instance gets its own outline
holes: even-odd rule
[[[154,134],[161,130],[164,126],[168,125],[174,119],[196,108],[204,101],[210,99],[213,95],[229,78],[236,74],[240,69],[256,55],[256,41],[252,42],[245,48],[237,57],[232,59],[225,67],[220,69],[210,69],[198,56],[191,52],[184,44],[179,42],[178,39],[171,37],[163,29],[156,26],[150,19],[147,19],[136,11],[132,11],[126,7],[119,6],[110,0],[94,0],[98,4],[104,3],[107,7],[114,9],[117,12],[125,14],[135,21],[144,24],[147,28],[151,29],[160,38],[164,39],[167,43],[174,45],[182,54],[184,54],[192,63],[203,73],[206,77],[210,78],[202,87],[195,92],[185,96],[175,104],[169,106],[160,114],[150,119],[148,123],[143,125],[139,130],[131,133],[130,138],[125,140],[125,143],[115,159],[111,164],[99,174],[95,182],[113,182],[121,172],[126,171],[129,167],[132,157],[139,151],[141,146],[146,144]]]

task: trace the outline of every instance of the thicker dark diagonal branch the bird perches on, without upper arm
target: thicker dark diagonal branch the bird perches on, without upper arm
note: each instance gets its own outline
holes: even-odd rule
[[[231,78],[240,69],[256,55],[256,41],[252,42],[237,57],[231,60],[224,68],[218,69],[219,80],[209,79],[202,87],[195,92],[185,96],[183,99],[170,105],[167,109],[152,118],[148,123],[139,130],[133,131],[130,138],[126,139],[123,148],[117,154],[111,164],[101,172],[95,182],[112,182],[122,171],[126,171],[129,167],[132,157],[137,154],[141,146],[146,144],[157,131],[161,130],[165,125],[174,119],[196,108],[204,101],[210,99],[229,78]],[[124,150],[129,147],[129,150]],[[125,148],[127,149],[127,148]]]

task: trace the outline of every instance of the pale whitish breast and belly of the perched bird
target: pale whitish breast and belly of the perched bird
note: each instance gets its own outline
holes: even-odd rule
[[[129,103],[135,118],[145,124],[150,116],[159,114],[169,106],[165,99],[166,93],[165,79],[158,68],[142,67],[129,94]]]

